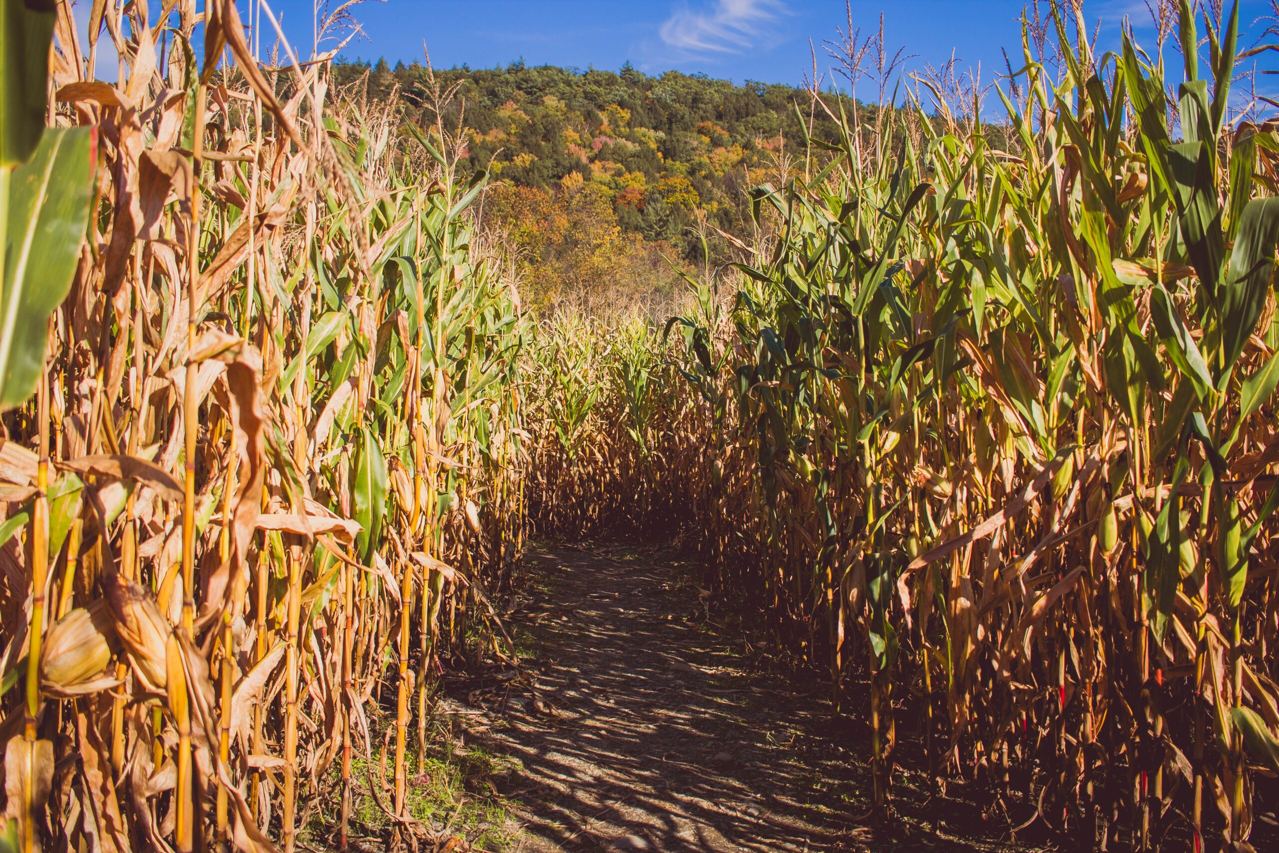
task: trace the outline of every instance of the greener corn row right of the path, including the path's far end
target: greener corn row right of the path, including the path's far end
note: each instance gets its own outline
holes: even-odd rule
[[[688,309],[540,338],[532,508],[679,524],[868,723],[872,815],[903,737],[1021,840],[1251,849],[1274,790],[1279,125],[1238,10],[1177,23],[1054,4],[991,125],[826,110]]]

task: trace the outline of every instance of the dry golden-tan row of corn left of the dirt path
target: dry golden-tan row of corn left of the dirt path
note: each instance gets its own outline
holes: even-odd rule
[[[432,684],[510,651],[530,329],[482,175],[249,5],[0,9],[0,849],[435,844]]]

